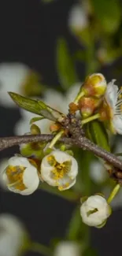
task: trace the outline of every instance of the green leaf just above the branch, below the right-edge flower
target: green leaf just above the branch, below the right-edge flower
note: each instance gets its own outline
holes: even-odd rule
[[[85,125],[86,135],[99,147],[110,151],[109,138],[104,125],[99,121],[92,121]]]

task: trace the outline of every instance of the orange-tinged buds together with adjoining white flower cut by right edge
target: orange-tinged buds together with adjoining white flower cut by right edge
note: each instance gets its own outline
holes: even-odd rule
[[[122,134],[122,88],[119,89],[115,81],[107,83],[101,73],[87,76],[74,103],[83,120],[98,113],[96,118],[110,132]]]

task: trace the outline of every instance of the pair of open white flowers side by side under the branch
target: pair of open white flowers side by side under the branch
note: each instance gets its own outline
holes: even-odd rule
[[[75,158],[60,150],[53,150],[42,161],[37,158],[14,156],[2,174],[4,184],[10,191],[20,195],[31,195],[39,182],[45,181],[60,191],[76,183],[78,165]]]

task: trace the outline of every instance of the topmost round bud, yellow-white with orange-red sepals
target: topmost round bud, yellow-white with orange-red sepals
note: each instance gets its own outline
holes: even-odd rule
[[[81,91],[87,97],[100,98],[105,94],[107,83],[105,77],[101,73],[94,73],[91,76],[87,76],[87,79],[81,87]]]

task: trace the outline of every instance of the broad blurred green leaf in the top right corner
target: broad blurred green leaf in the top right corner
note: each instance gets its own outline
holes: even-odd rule
[[[91,0],[94,15],[103,32],[114,33],[120,25],[121,7],[119,0]]]

